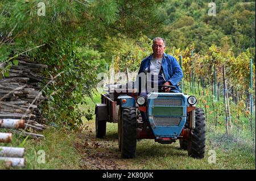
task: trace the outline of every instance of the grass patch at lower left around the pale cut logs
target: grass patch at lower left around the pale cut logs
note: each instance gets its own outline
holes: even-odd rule
[[[24,155],[26,167],[22,169],[80,169],[80,154],[73,144],[77,140],[75,133],[67,133],[60,128],[47,128],[42,134],[46,140],[30,138],[26,140],[26,138],[15,136],[10,144],[0,145],[26,149]],[[45,153],[45,163],[42,163],[44,153],[40,150]],[[5,165],[0,163],[0,169],[6,169]]]

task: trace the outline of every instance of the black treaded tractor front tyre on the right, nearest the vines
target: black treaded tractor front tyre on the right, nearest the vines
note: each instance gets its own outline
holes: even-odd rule
[[[204,158],[205,152],[205,116],[204,110],[195,110],[196,128],[193,130],[191,140],[188,141],[188,156],[193,158]]]

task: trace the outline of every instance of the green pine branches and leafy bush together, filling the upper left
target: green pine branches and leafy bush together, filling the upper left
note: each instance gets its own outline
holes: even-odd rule
[[[38,15],[42,2],[46,16]],[[93,112],[81,112],[78,105],[86,103],[84,97],[91,96],[96,86],[96,74],[111,61],[108,50],[101,53],[106,39],[136,37],[156,26],[160,30],[162,2],[3,0],[0,62],[6,64],[1,65],[1,76],[9,76],[10,66],[18,64],[15,58],[22,52],[32,61],[47,64],[44,76],[54,80],[44,88],[48,101],[42,104],[42,112],[49,121],[79,130],[81,117],[89,120]],[[137,49],[127,53],[131,59]]]

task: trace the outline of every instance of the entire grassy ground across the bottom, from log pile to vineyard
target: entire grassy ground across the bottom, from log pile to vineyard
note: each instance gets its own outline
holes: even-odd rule
[[[99,95],[94,97],[94,102],[100,102]],[[93,110],[94,102],[88,98],[81,109]],[[0,146],[26,148],[26,167],[22,169],[255,169],[255,145],[248,139],[226,137],[225,128],[216,129],[208,123],[204,159],[189,158],[187,151],[180,149],[179,141],[161,145],[154,140],[138,141],[137,158],[122,159],[118,150],[117,124],[108,123],[106,136],[102,139],[95,137],[94,119],[84,120],[84,125],[86,129],[80,133],[50,127],[42,132],[46,140],[15,136],[10,144]],[[45,153],[45,163],[38,162],[42,155],[40,150]],[[216,162],[209,163],[209,160],[214,161],[213,153]],[[6,169],[2,163],[1,169]]]

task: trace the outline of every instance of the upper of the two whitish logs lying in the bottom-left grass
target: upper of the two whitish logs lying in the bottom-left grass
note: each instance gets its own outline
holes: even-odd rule
[[[25,149],[24,148],[14,148],[7,146],[0,146],[0,157],[19,157],[22,158],[24,156]]]

